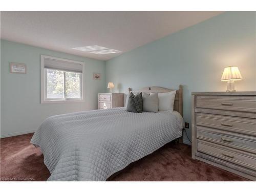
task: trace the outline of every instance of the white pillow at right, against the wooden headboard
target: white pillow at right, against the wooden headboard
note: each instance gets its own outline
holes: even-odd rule
[[[174,100],[175,91],[170,91],[167,93],[158,93],[158,110],[159,111],[174,111]]]

